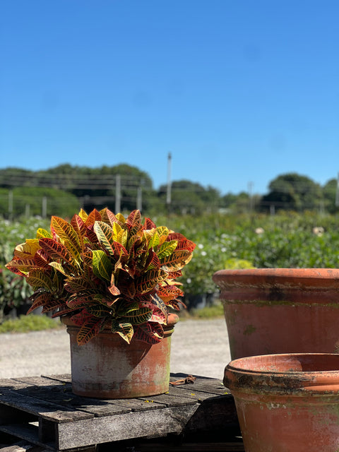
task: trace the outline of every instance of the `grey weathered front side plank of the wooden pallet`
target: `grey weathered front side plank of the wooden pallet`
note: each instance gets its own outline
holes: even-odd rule
[[[187,405],[58,424],[57,446],[67,449],[148,435],[179,434],[197,408],[198,404]]]

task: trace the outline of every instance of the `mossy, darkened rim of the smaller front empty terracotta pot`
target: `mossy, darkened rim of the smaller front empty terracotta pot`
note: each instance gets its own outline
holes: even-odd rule
[[[266,369],[271,364],[272,369]],[[224,384],[234,391],[339,396],[339,355],[283,353],[234,359],[225,368]]]

